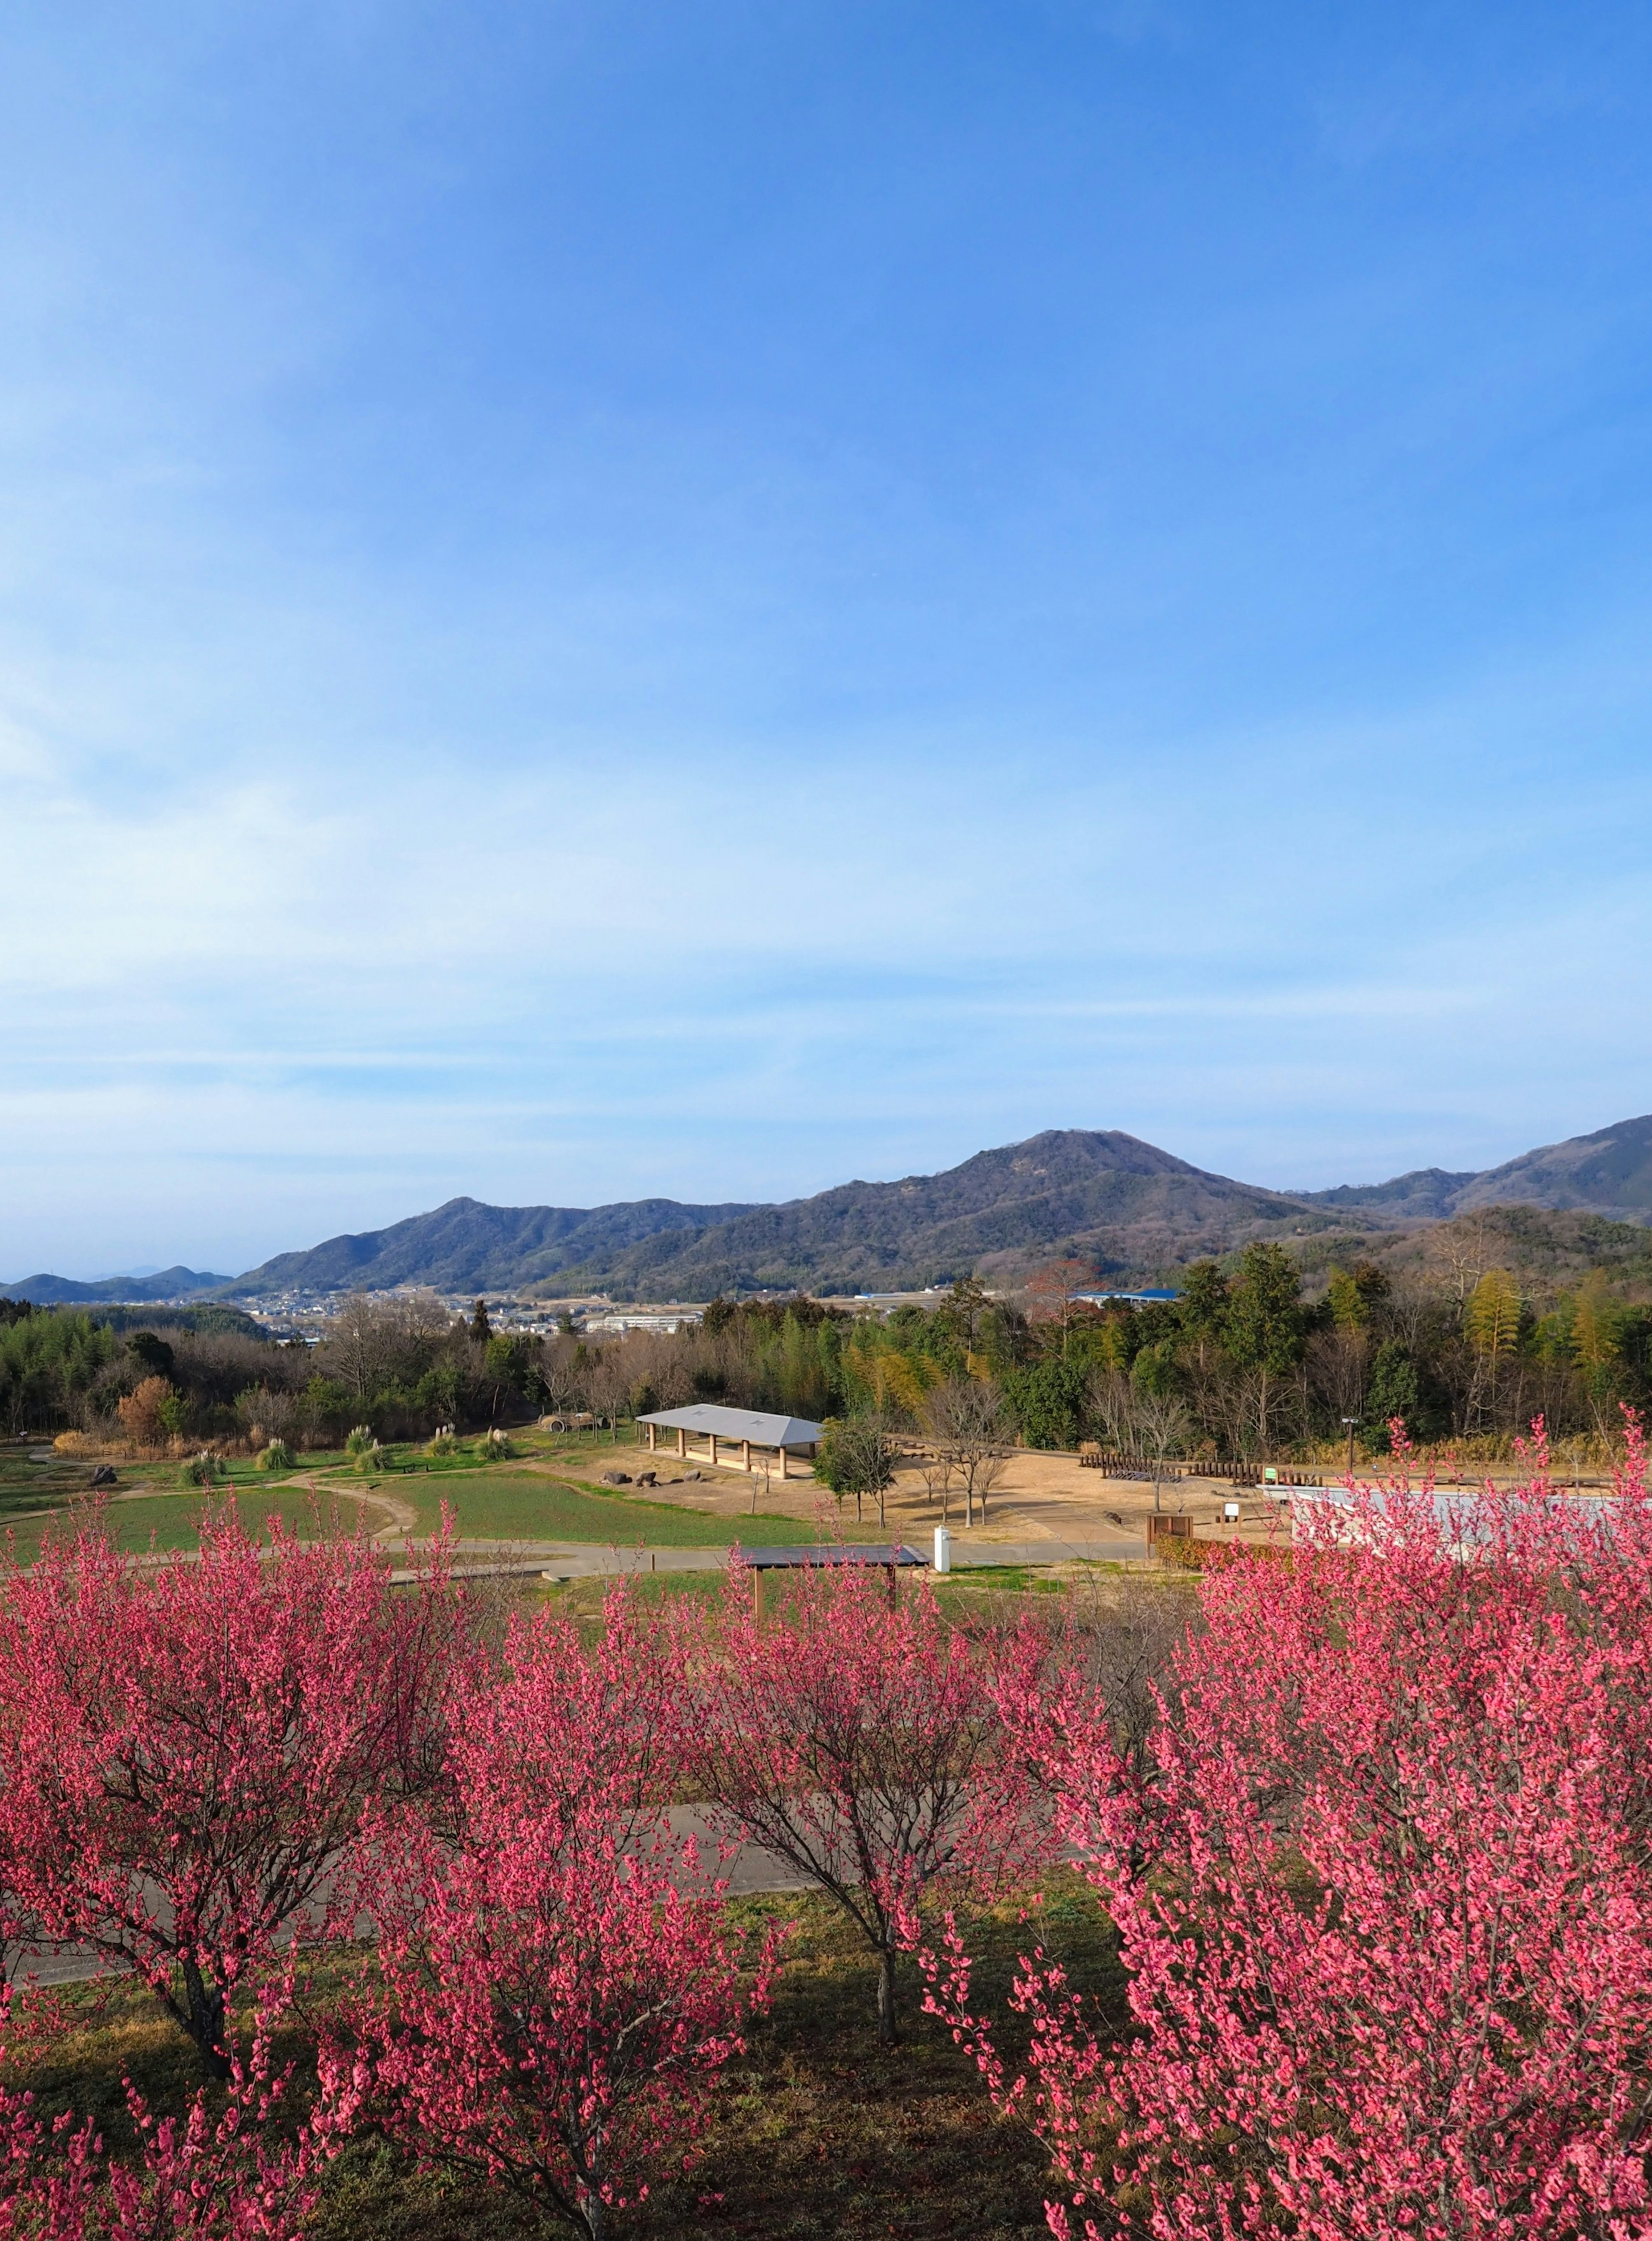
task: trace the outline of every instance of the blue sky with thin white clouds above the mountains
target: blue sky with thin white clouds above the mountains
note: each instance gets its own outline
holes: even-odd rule
[[[1652,1107],[1645,9],[22,0],[0,1275]]]

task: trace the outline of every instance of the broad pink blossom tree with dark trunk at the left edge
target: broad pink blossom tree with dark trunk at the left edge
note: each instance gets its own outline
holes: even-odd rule
[[[442,1549],[392,1593],[368,1542],[260,1546],[233,1508],[199,1557],[47,1542],[0,1578],[11,1934],[134,1968],[229,2077],[229,2001],[352,1923],[363,1817],[435,1777],[462,1661]]]

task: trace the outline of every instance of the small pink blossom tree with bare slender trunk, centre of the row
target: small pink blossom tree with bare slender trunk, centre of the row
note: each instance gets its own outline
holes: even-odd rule
[[[796,1578],[760,1620],[731,1569],[699,1645],[704,1717],[686,1768],[731,1831],[827,1891],[879,1961],[894,2044],[894,1961],[932,1889],[982,1900],[1047,1847],[1027,1755],[993,1683],[1004,1656],[948,1627],[924,1587],[899,1602],[867,1566]]]

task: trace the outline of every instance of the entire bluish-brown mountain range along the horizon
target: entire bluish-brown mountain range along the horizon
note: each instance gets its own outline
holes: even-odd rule
[[[1051,1257],[1119,1282],[1166,1275],[1249,1237],[1302,1239],[1316,1259],[1345,1239],[1414,1233],[1491,1208],[1652,1226],[1652,1114],[1542,1145],[1500,1168],[1419,1168],[1388,1183],[1262,1190],[1192,1168],[1119,1129],[1047,1129],[941,1174],[841,1183],[785,1206],[484,1206],[448,1199],[383,1230],[278,1253],[240,1277],[166,1268],[74,1284],[36,1275],[0,1293],[76,1300],[247,1300],[269,1293],[529,1291],[572,1298],[706,1300],[807,1286],[906,1291],[975,1271],[1013,1277]],[[1571,1224],[1576,1228],[1576,1221]],[[119,1289],[117,1289],[119,1286]]]

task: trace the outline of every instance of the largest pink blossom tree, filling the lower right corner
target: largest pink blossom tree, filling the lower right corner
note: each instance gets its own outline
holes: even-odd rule
[[[1141,1768],[1085,1687],[1011,1687],[1132,2028],[1036,1954],[1013,2073],[955,1932],[928,1970],[1051,2149],[1056,2234],[1652,2234],[1643,1495],[1632,1432],[1596,1508],[1538,1445],[1515,1495],[1448,1506],[1401,1477],[1287,1562],[1235,1553]]]

